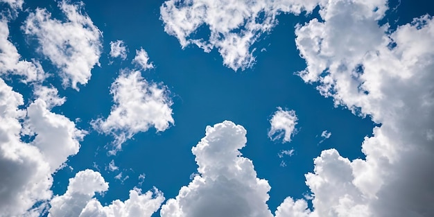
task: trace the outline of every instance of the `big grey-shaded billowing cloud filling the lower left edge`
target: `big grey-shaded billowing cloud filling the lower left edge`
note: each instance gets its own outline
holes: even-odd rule
[[[0,177],[0,216],[33,216],[51,198],[51,175],[78,153],[85,131],[50,112],[44,97],[19,109],[21,94],[2,79],[0,96],[0,171],[8,174]],[[23,135],[31,137],[25,142]]]

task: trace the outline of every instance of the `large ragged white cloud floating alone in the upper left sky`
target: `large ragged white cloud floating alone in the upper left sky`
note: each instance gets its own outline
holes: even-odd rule
[[[27,17],[24,31],[34,35],[40,43],[40,52],[60,69],[64,87],[78,89],[91,77],[91,70],[101,56],[101,32],[92,20],[80,10],[83,3],[59,3],[67,21],[51,18],[46,9],[37,8]]]

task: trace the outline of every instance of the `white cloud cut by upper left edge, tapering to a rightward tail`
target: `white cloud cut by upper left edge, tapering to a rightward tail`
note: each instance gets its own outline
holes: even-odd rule
[[[39,62],[32,60],[20,60],[17,48],[8,40],[8,20],[0,19],[0,74],[14,74],[22,76],[24,83],[44,80],[46,77]]]

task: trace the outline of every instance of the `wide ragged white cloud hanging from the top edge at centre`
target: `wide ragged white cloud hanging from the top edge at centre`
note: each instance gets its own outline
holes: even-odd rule
[[[218,49],[223,64],[234,69],[251,67],[252,44],[277,24],[281,12],[311,12],[318,1],[303,0],[169,0],[160,8],[164,31],[177,37],[184,49],[196,44],[205,52]],[[196,34],[209,28],[209,35]]]

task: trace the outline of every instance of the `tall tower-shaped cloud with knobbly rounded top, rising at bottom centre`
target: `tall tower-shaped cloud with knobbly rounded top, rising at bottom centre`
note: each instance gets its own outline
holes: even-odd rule
[[[199,174],[162,206],[161,216],[272,216],[266,204],[270,185],[239,152],[245,134],[243,126],[231,121],[207,126],[205,137],[192,148]]]

